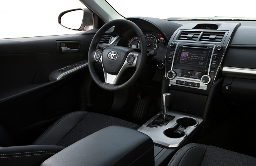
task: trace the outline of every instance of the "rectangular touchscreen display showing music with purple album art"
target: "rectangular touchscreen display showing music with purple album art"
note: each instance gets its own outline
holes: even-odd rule
[[[196,66],[205,67],[209,55],[209,50],[180,48],[180,56],[178,64],[193,64]]]

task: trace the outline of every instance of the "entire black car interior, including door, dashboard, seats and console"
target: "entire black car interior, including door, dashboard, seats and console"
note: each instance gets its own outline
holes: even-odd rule
[[[0,165],[256,165],[255,20],[81,2],[76,34],[0,39]]]

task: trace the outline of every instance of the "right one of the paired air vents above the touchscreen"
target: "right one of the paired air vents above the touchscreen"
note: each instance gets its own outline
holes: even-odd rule
[[[203,32],[199,41],[202,42],[221,42],[225,32]]]

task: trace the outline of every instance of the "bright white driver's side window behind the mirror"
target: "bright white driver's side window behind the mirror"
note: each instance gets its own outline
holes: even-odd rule
[[[2,0],[0,39],[78,33],[58,24],[61,12],[76,8],[86,6],[79,0]]]

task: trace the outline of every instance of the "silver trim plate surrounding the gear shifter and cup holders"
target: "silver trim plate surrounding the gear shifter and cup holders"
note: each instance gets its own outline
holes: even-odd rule
[[[198,127],[203,122],[203,119],[200,116],[194,116],[194,115],[186,114],[183,112],[168,110],[167,114],[171,116],[175,116],[175,118],[171,120],[168,124],[166,124],[166,126],[160,126],[156,128],[147,127],[147,125],[150,124],[160,114],[162,114],[162,111],[160,111],[153,118],[148,120],[148,122],[143,124],[138,129],[138,131],[143,132],[144,134],[150,136],[150,138],[154,141],[155,144],[162,145],[167,148],[178,147],[180,144],[182,144],[182,142],[186,139],[186,137],[189,134],[191,134],[196,129],[196,127]],[[169,138],[168,136],[164,135],[165,130],[167,130],[168,128],[174,128],[177,125],[177,120],[184,117],[193,118],[194,120],[196,120],[195,125],[189,126],[188,128],[186,128],[186,130],[184,131],[185,132],[184,136],[180,138]]]

